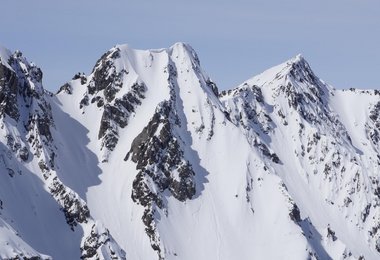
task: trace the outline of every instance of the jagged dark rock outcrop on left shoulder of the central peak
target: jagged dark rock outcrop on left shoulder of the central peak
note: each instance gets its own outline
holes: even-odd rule
[[[108,152],[113,151],[119,139],[119,128],[128,125],[128,119],[141,105],[145,98],[146,86],[142,82],[135,82],[131,86],[123,86],[123,80],[128,76],[126,69],[118,70],[116,63],[120,59],[120,49],[113,48],[105,53],[96,63],[91,76],[78,74],[74,80],[80,80],[87,87],[80,107],[96,105],[102,108],[98,139],[101,140],[101,148],[105,149],[103,161],[108,160]],[[117,97],[121,91],[123,94]],[[61,91],[70,93],[70,86],[64,85]]]

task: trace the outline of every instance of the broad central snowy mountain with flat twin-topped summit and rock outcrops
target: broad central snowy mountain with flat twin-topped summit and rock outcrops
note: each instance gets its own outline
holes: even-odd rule
[[[130,259],[317,254],[302,235],[310,225],[273,175],[275,155],[247,143],[190,46],[116,46],[52,107],[68,140],[58,175]]]

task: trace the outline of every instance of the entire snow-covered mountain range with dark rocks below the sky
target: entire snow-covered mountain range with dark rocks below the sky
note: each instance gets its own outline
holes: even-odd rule
[[[297,56],[218,93],[183,43],[41,81],[0,48],[0,259],[379,259],[378,91]]]

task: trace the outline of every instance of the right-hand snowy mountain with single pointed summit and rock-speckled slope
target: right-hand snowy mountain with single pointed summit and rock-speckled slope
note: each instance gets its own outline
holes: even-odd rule
[[[334,90],[297,56],[221,99],[248,142],[278,156],[274,170],[325,252],[378,258],[377,91]]]

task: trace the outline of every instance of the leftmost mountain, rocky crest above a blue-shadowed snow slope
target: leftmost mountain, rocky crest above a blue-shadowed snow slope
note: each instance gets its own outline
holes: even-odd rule
[[[56,175],[56,143],[62,140],[53,137],[52,94],[42,87],[41,70],[21,52],[1,49],[0,55],[0,257],[124,258]]]

